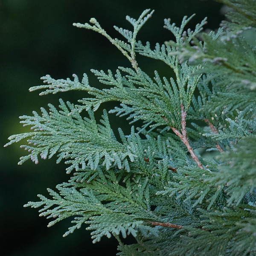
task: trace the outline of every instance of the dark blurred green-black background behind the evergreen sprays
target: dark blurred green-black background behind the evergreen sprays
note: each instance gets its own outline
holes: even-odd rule
[[[40,111],[47,103],[58,105],[64,101],[76,103],[85,95],[67,92],[39,96],[29,93],[29,87],[40,85],[40,77],[50,74],[55,79],[72,77],[76,73],[89,76],[91,85],[101,85],[90,69],[115,71],[118,66],[130,67],[130,63],[101,35],[78,29],[73,22],[85,23],[95,17],[113,37],[118,36],[113,25],[131,28],[126,15],[139,17],[144,9],[154,9],[153,17],[139,32],[138,38],[163,43],[172,39],[163,29],[163,19],[170,17],[180,24],[184,15],[197,15],[190,22],[195,24],[208,17],[206,29],[216,29],[223,19],[221,5],[201,0],[0,0],[0,221],[1,255],[115,255],[115,239],[103,239],[92,244],[85,225],[70,236],[63,238],[70,225],[62,221],[47,228],[47,219],[38,218],[37,209],[23,208],[28,201],[36,201],[37,194],[47,194],[46,188],[54,189],[58,183],[69,179],[66,166],[51,160],[41,160],[38,165],[26,162],[18,166],[24,151],[19,145],[3,148],[12,134],[25,132],[18,116]],[[120,36],[121,37],[121,36]],[[161,62],[138,56],[139,66],[149,75],[157,69],[164,76],[171,76],[168,67]],[[113,108],[105,105],[104,108]],[[101,115],[100,109],[97,115]],[[125,119],[110,116],[114,130],[122,127],[126,134],[130,128]]]

